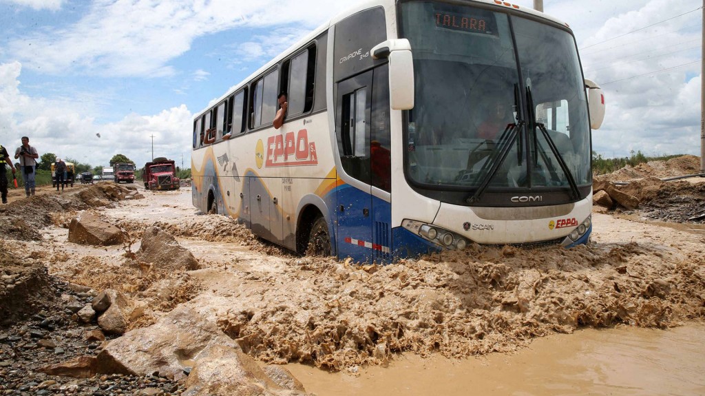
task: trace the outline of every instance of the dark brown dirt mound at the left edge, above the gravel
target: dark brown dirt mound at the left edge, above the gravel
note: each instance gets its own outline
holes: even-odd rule
[[[0,326],[35,313],[54,299],[47,268],[34,259],[19,259],[0,241]]]

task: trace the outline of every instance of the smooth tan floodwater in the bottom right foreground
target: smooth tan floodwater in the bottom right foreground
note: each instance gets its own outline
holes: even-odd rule
[[[359,376],[286,367],[319,396],[705,395],[705,324],[578,330],[465,360],[406,354]]]

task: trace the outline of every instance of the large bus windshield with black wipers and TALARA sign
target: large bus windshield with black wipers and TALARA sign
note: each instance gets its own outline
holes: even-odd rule
[[[587,98],[570,32],[435,1],[407,1],[400,18],[414,54],[404,137],[411,182],[468,191],[591,183]]]

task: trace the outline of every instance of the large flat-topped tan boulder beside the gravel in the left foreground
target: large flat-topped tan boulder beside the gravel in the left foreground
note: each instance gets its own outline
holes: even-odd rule
[[[184,366],[207,356],[210,347],[224,345],[239,349],[237,343],[196,311],[178,307],[148,328],[139,328],[112,340],[98,354],[102,373],[183,378]]]

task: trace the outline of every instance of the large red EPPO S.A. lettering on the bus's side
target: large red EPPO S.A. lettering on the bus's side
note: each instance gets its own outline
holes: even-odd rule
[[[308,131],[286,132],[270,136],[266,141],[264,167],[318,165],[316,143],[309,142]]]

